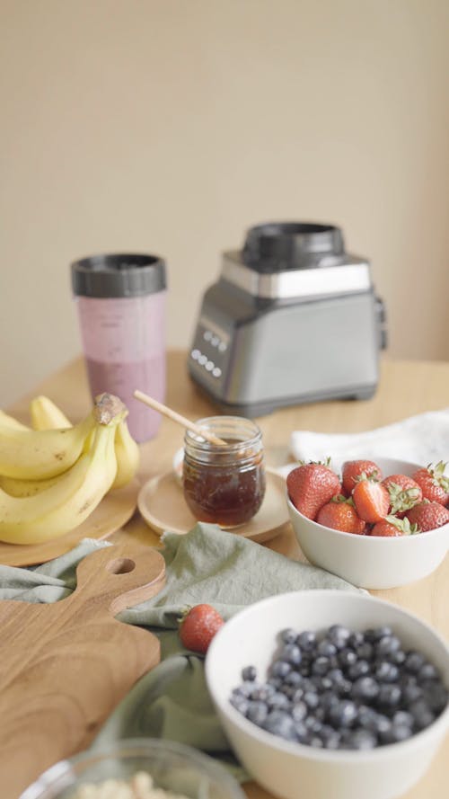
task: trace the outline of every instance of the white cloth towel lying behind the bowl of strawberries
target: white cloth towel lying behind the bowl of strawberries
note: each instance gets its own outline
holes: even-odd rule
[[[331,458],[331,466],[339,469],[345,460],[366,457],[395,457],[427,466],[449,460],[449,409],[410,416],[360,433],[318,433],[295,431],[290,450],[295,460]],[[292,466],[285,467],[289,471]],[[284,470],[283,470],[284,471]]]

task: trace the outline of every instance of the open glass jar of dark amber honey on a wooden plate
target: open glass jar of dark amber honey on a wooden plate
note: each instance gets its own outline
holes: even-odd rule
[[[262,434],[240,416],[210,416],[198,427],[225,444],[212,444],[186,431],[182,484],[198,521],[223,529],[240,527],[260,509],[265,494]]]

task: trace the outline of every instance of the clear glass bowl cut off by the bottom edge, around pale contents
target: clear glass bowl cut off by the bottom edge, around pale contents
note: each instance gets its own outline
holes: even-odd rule
[[[189,799],[245,799],[238,783],[207,755],[173,741],[136,738],[86,750],[48,768],[20,799],[72,799],[87,783],[128,780],[146,771],[154,784]]]

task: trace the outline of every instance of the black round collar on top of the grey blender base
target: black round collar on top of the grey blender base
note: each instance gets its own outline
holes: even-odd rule
[[[260,272],[310,269],[345,254],[339,227],[315,222],[274,222],[251,227],[243,246],[243,262]]]

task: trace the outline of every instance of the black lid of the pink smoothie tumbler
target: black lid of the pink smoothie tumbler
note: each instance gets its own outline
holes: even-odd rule
[[[167,287],[165,262],[157,255],[92,255],[71,264],[72,289],[82,297],[142,297]]]

